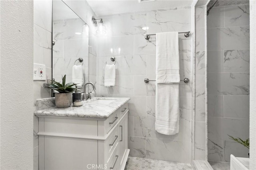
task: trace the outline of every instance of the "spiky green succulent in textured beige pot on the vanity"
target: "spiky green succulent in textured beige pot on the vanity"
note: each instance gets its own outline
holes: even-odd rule
[[[52,84],[46,83],[47,88],[58,91],[55,94],[56,107],[69,107],[72,104],[72,92],[77,90],[73,88],[76,84],[69,82],[66,84],[66,74],[62,77],[62,84],[54,80],[50,80]]]

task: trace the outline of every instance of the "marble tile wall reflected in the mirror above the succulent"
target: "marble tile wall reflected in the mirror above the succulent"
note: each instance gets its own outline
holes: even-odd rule
[[[77,19],[53,21],[53,41],[55,42],[52,50],[53,78],[60,82],[62,76],[66,74],[66,81],[72,82],[72,67],[78,58],[82,58],[84,81],[88,82],[89,65],[89,41],[86,33],[76,35],[81,32],[84,21]],[[76,61],[76,65],[80,65]],[[82,84],[80,85],[82,86]]]

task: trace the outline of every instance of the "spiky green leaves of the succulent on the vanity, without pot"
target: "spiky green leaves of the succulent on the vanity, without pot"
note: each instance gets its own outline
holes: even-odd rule
[[[66,84],[66,74],[62,77],[62,84],[54,80],[49,80],[49,81],[51,81],[52,84],[45,83],[45,85],[47,86],[46,88],[56,90],[59,93],[72,93],[74,90],[77,90],[77,88],[73,88],[73,86],[75,86],[76,84],[72,82],[69,82]]]

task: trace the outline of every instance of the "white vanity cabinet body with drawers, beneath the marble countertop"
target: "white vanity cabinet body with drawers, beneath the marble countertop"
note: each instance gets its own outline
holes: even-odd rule
[[[40,170],[124,170],[130,151],[127,102],[107,119],[37,116]]]

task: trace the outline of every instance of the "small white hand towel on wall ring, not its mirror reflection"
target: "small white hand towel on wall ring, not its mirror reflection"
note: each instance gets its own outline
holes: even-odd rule
[[[106,64],[104,86],[114,86],[116,83],[116,68],[115,65]]]

